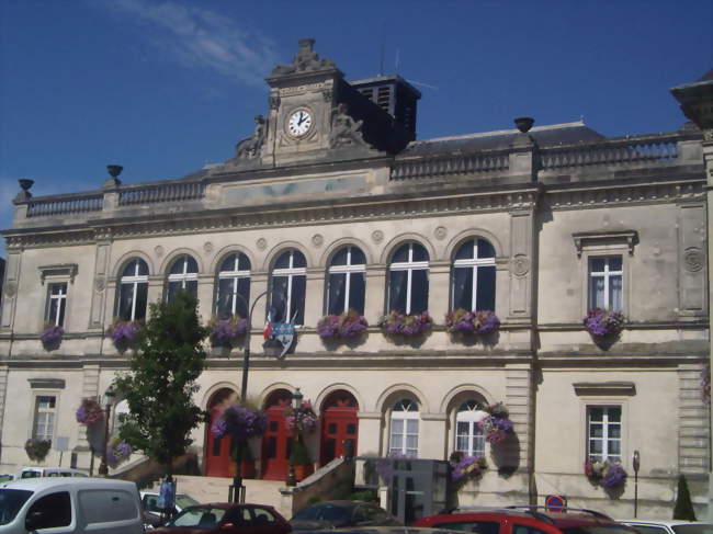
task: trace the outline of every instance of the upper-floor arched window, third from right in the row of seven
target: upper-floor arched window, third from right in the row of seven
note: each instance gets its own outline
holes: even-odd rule
[[[364,313],[366,258],[356,247],[344,247],[331,259],[327,289],[327,313],[339,315],[350,308]]]

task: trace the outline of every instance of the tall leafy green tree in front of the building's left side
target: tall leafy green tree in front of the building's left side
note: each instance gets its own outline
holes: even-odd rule
[[[196,299],[180,292],[170,303],[150,305],[149,319],[131,371],[116,379],[128,402],[121,438],[165,465],[171,479],[174,458],[185,454],[191,430],[205,417],[193,404],[195,380],[203,371],[207,330],[199,321]]]

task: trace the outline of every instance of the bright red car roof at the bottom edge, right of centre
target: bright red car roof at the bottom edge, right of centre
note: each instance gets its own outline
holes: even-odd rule
[[[461,510],[421,518],[414,526],[433,526],[476,534],[637,534],[608,515],[591,510],[567,509],[541,512],[537,507],[514,507],[491,510]]]

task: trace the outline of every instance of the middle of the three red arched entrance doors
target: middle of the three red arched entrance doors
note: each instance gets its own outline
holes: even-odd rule
[[[265,402],[268,428],[262,436],[262,478],[265,480],[287,478],[292,435],[285,425],[285,410],[291,401],[292,394],[281,389]]]

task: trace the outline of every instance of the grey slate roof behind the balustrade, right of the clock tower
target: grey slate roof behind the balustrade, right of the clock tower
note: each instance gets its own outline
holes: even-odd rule
[[[426,156],[451,151],[507,149],[519,133],[519,130],[513,128],[416,140],[409,143],[400,155]],[[569,145],[573,143],[593,143],[606,139],[603,135],[586,126],[582,121],[535,126],[529,134],[534,137],[540,147]]]

